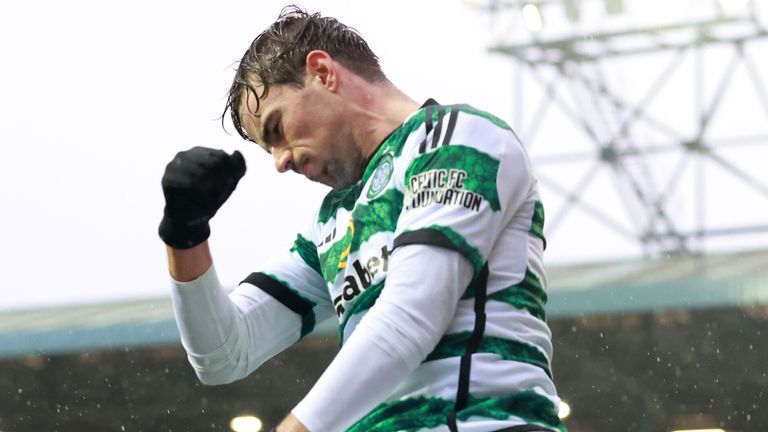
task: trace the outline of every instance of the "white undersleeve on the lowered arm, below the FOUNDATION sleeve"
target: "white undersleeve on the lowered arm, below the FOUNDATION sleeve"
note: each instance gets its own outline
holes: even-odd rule
[[[384,402],[435,348],[473,274],[458,252],[430,245],[397,248],[390,264],[376,304],[292,411],[312,432],[344,430]]]

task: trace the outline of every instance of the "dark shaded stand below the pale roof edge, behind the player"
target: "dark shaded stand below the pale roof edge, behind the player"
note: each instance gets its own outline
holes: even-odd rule
[[[768,431],[768,307],[557,319],[553,370],[571,432]],[[180,346],[0,361],[0,431],[229,431],[274,426],[337,350],[310,336],[247,379],[197,382]]]

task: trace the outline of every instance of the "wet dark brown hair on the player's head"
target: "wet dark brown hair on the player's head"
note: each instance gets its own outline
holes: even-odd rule
[[[307,54],[313,50],[327,52],[368,82],[387,79],[379,66],[379,58],[357,30],[335,18],[309,14],[299,6],[289,5],[283,8],[277,21],[253,40],[240,60],[227,94],[222,121],[229,111],[237,133],[254,141],[240,121],[238,108],[242,98],[255,97],[258,110],[259,98],[267,96],[270,86],[301,87]],[[261,94],[256,91],[256,84],[262,86]]]

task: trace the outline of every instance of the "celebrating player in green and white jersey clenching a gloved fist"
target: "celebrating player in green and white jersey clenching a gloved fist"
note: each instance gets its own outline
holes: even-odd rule
[[[195,147],[168,164],[159,231],[203,383],[247,376],[335,315],[342,347],[278,431],[565,431],[544,213],[506,123],[419,105],[357,32],[297,7],[246,51],[227,110],[279,172],[333,189],[294,246],[227,295],[208,221],[243,157]]]

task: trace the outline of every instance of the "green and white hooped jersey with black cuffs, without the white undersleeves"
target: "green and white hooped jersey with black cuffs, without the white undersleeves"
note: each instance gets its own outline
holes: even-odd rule
[[[460,430],[478,423],[565,431],[544,321],[543,223],[510,127],[471,106],[428,103],[387,137],[359,183],[326,196],[290,252],[246,281],[299,313],[302,336],[335,314],[343,344],[384,288],[394,248],[456,250],[475,276],[448,331],[349,430],[445,430],[456,422]],[[429,275],[425,268],[424,283]]]

